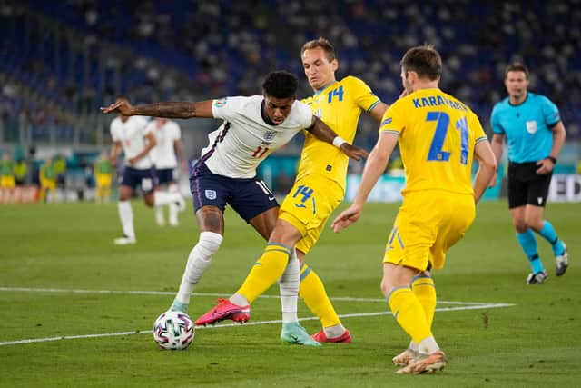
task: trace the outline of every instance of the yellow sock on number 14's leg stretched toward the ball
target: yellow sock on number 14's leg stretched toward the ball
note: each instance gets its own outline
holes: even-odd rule
[[[264,254],[256,261],[251,273],[236,293],[240,293],[249,303],[268,290],[281,277],[289,263],[291,249],[281,244],[267,244]]]

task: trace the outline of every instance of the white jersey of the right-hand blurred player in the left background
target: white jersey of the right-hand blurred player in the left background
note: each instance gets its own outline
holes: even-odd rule
[[[178,159],[173,144],[182,137],[180,125],[168,120],[160,127],[156,120],[152,120],[147,125],[147,132],[153,132],[155,135],[156,144],[152,150],[155,168],[166,169],[177,167]]]

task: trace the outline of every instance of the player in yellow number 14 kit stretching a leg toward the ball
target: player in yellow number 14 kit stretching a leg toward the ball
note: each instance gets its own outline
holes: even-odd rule
[[[300,296],[323,326],[312,338],[317,342],[350,343],[350,333],[340,323],[319,276],[303,262],[303,258],[319,239],[330,214],[345,194],[349,160],[337,152],[336,147],[340,141],[353,141],[362,112],[369,113],[379,122],[388,106],[359,78],[348,76],[336,80],[339,63],[333,45],[327,39],[307,42],[301,48],[300,56],[305,75],[315,91],[315,95],[303,102],[310,105],[313,114],[328,124],[340,140],[334,147],[305,134],[295,184],[281,205],[269,244],[257,262],[260,265],[255,265],[241,289],[223,302],[227,306],[214,307],[196,323],[239,317],[237,314],[248,311],[248,305],[281,278],[283,341],[297,343],[291,339],[291,331],[298,322],[296,294],[300,286]],[[221,311],[226,314],[221,315]]]

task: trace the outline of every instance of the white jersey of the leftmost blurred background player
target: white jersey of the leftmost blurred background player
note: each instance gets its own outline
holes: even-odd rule
[[[113,138],[113,142],[121,142],[123,144],[125,160],[131,159],[133,156],[141,153],[143,148],[145,148],[147,123],[147,118],[143,116],[130,116],[124,123],[121,121],[121,117],[115,117],[111,122],[111,137]],[[152,165],[152,158],[147,154],[133,164],[132,167],[139,170],[146,170],[152,168]]]

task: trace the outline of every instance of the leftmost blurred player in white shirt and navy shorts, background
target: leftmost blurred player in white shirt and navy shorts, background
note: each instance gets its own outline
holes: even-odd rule
[[[131,198],[136,188],[143,192],[143,201],[148,206],[154,204],[170,204],[171,202],[182,204],[181,195],[169,193],[154,193],[155,176],[153,161],[150,151],[155,146],[155,137],[147,131],[147,119],[145,117],[129,117],[120,114],[111,122],[111,161],[114,164],[117,156],[123,150],[125,165],[123,176],[119,186],[119,219],[123,228],[123,237],[116,238],[117,245],[135,244],[135,230],[133,228],[133,209]]]

